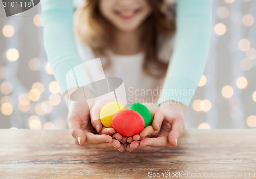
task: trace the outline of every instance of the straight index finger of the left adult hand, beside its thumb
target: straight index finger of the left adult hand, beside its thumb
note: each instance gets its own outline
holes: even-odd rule
[[[86,132],[86,142],[85,143],[89,143],[89,144],[100,144],[100,143],[105,143],[105,142],[109,142],[111,143],[113,141],[112,137],[109,135],[95,135],[91,132]]]

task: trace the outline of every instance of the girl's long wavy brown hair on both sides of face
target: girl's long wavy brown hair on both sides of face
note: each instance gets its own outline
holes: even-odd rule
[[[152,13],[144,20],[141,40],[145,52],[144,70],[152,77],[165,74],[168,63],[158,57],[158,35],[173,35],[176,29],[174,6],[168,6],[165,0],[148,0]],[[85,0],[85,4],[76,11],[76,33],[83,43],[86,43],[97,56],[105,56],[111,42],[110,22],[99,10],[99,0]],[[108,59],[108,58],[107,58]],[[110,62],[110,60],[108,60]],[[152,68],[158,70],[154,74]]]

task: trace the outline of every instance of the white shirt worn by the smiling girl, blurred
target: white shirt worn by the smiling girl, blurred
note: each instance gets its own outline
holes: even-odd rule
[[[161,48],[158,55],[161,59],[169,60],[171,53],[170,47],[172,47],[173,40],[165,40],[165,43],[162,44],[163,48]],[[98,58],[90,48],[81,43],[78,43],[78,52],[83,61]],[[123,80],[128,104],[144,102],[157,104],[164,77],[155,79],[146,74],[143,70],[143,52],[133,55],[117,55],[108,51],[108,56],[111,65],[104,69],[105,76],[119,77]],[[100,59],[102,64],[104,64],[105,57],[100,57]],[[96,74],[95,71],[93,73],[89,74],[89,76]]]

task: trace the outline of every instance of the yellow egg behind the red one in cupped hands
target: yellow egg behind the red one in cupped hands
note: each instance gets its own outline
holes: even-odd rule
[[[100,110],[100,121],[105,127],[112,127],[111,120],[119,111],[124,110],[124,106],[116,101],[105,104]]]

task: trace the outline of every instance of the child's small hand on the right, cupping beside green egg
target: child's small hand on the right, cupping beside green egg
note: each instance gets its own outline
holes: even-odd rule
[[[153,103],[144,103],[143,105],[145,105],[150,110],[151,115],[153,116],[152,124],[145,127],[139,134],[127,138],[128,143],[131,143],[132,141],[142,140],[145,137],[157,136],[160,131],[164,119],[164,114],[162,113],[160,108]]]

